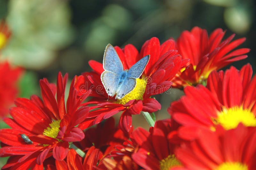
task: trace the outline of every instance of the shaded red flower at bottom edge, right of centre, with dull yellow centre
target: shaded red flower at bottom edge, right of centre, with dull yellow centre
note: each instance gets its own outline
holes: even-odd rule
[[[141,167],[149,170],[171,169],[181,166],[174,155],[171,120],[159,120],[150,131],[136,129],[131,138],[139,145],[132,159]]]

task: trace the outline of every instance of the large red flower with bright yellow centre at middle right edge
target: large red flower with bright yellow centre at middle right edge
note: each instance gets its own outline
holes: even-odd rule
[[[228,130],[240,122],[256,127],[256,76],[251,78],[250,64],[240,71],[231,66],[225,74],[213,71],[207,87],[186,87],[185,96],[168,108],[173,120],[182,125],[178,134],[193,139],[202,129],[214,131],[220,124]]]

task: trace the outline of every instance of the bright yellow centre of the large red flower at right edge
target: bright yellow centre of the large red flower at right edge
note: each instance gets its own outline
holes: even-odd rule
[[[222,112],[217,113],[218,117],[213,119],[215,124],[220,124],[226,130],[234,129],[241,122],[244,126],[255,127],[255,115],[248,109],[234,106],[231,108],[222,108]]]

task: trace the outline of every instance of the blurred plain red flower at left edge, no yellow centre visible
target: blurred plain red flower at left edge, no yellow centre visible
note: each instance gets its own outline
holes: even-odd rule
[[[22,73],[20,67],[11,68],[8,62],[0,63],[0,118],[8,114],[9,107],[17,97],[17,81]]]

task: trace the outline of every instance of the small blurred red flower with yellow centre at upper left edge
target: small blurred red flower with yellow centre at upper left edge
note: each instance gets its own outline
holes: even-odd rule
[[[4,20],[0,22],[0,50],[4,48],[7,40],[11,36],[11,31]]]

